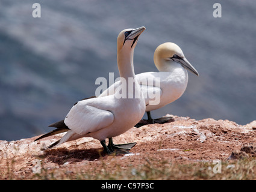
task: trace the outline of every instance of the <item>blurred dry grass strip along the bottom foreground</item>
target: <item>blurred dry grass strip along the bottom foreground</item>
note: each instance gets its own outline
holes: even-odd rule
[[[214,173],[213,162],[178,163],[146,159],[136,167],[132,164],[123,166],[116,161],[99,160],[96,167],[80,166],[70,169],[42,169],[41,173],[29,175],[14,175],[11,171],[12,162],[7,164],[4,173],[0,171],[0,179],[256,179],[256,160],[246,158],[236,161],[222,161],[221,173]]]

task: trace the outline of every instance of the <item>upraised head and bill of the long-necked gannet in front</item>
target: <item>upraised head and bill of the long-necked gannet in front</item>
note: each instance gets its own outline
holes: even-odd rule
[[[117,37],[117,51],[125,49],[134,49],[136,47],[138,37],[145,30],[145,26],[137,29],[124,29]]]

